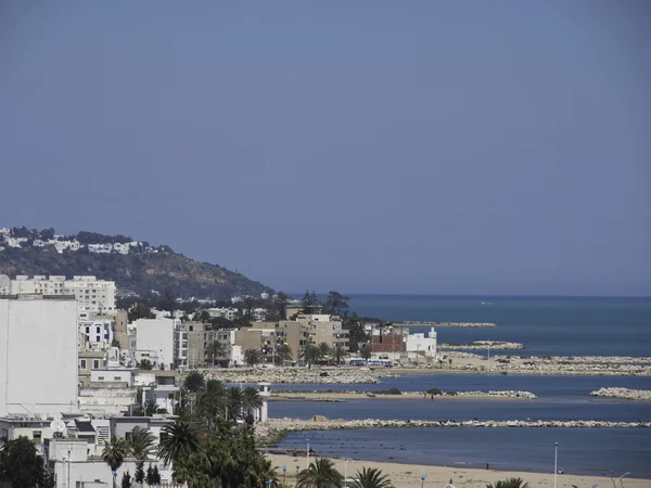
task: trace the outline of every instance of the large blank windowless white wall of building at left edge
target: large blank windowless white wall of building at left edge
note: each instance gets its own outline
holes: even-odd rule
[[[77,409],[77,303],[0,297],[0,418]]]

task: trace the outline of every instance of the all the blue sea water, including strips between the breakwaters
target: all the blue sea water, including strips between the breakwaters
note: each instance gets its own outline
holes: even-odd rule
[[[651,298],[443,297],[352,295],[350,311],[391,321],[494,322],[496,328],[438,328],[438,342],[509,341],[529,356],[651,356]],[[412,328],[424,332],[426,328]],[[494,351],[509,354],[509,351]],[[651,402],[597,398],[601,387],[651,389],[651,377],[535,376],[501,374],[403,375],[381,385],[278,385],[282,389],[403,391],[520,389],[537,400],[413,399],[346,402],[271,402],[272,418],[399,420],[601,420],[651,422]],[[618,475],[651,479],[651,429],[648,428],[399,428],[291,433],[278,449],[421,465],[484,467],[567,474]],[[604,483],[610,479],[604,478]],[[651,486],[651,484],[650,484]]]

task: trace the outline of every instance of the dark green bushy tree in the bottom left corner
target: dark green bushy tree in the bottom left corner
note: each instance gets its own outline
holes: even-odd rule
[[[0,480],[13,488],[53,486],[43,468],[42,457],[38,455],[34,442],[24,436],[5,441],[0,449]]]

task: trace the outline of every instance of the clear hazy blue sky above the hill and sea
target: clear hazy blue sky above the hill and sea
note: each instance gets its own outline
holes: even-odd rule
[[[648,1],[3,1],[0,227],[277,290],[651,295]]]

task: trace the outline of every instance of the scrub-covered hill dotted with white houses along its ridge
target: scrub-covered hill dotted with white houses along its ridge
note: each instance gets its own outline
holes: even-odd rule
[[[169,246],[151,246],[124,235],[79,232],[55,235],[53,229],[0,229],[0,273],[93,274],[118,288],[148,295],[169,288],[176,296],[224,298],[259,296],[268,286],[218,265],[200,262]]]

